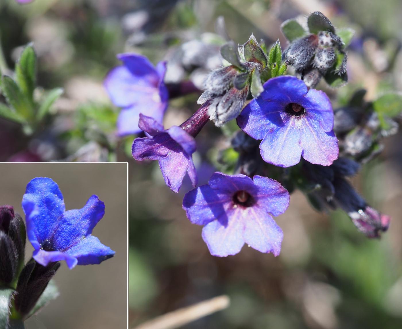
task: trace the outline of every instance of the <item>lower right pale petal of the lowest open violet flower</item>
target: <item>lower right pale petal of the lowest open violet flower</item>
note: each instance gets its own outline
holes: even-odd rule
[[[242,214],[244,242],[250,247],[275,256],[281,252],[283,231],[265,209],[249,207]]]

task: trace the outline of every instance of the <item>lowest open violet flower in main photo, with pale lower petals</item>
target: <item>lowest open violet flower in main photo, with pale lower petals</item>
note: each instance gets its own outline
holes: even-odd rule
[[[191,223],[205,225],[202,237],[211,255],[220,257],[235,255],[244,243],[279,255],[283,232],[272,215],[284,213],[288,206],[289,192],[276,180],[220,172],[183,199]]]

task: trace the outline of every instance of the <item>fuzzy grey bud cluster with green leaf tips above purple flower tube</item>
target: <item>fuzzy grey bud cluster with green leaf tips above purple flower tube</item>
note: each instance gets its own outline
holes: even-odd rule
[[[249,91],[256,98],[264,90],[263,82],[285,73],[287,64],[281,64],[279,41],[268,55],[264,48],[264,43],[259,44],[254,35],[243,45],[236,46],[231,41],[221,47],[221,55],[230,65],[209,74],[205,91],[197,101],[210,101],[209,117],[217,127],[240,114]]]

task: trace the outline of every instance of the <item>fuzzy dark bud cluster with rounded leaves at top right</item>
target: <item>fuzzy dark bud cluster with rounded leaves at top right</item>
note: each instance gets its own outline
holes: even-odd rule
[[[308,16],[307,25],[308,31],[294,19],[283,22],[282,32],[290,42],[283,59],[310,88],[322,77],[330,86],[342,86],[347,82],[345,41],[321,12]]]

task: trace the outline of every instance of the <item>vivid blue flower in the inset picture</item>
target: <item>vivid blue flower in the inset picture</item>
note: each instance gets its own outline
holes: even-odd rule
[[[72,269],[76,265],[100,264],[115,251],[91,235],[105,214],[105,204],[92,195],[81,209],[66,211],[59,186],[50,178],[31,180],[23,196],[27,236],[41,265],[65,260]]]

